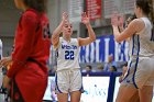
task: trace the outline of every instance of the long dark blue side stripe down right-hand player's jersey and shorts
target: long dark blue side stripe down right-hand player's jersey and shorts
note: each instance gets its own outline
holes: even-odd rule
[[[138,55],[136,55],[138,57],[136,57],[135,69],[134,69],[133,78],[132,78],[133,84],[136,89],[139,89],[139,88],[135,83],[134,77],[135,77],[135,72],[136,72],[136,68],[138,68],[138,64],[139,64],[139,53],[140,53],[140,36],[138,35]]]

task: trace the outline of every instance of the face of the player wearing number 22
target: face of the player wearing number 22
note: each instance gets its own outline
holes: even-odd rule
[[[70,23],[65,23],[63,34],[65,34],[65,36],[70,36],[73,34],[73,26]]]

